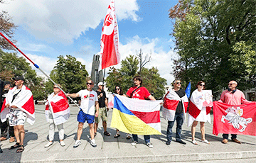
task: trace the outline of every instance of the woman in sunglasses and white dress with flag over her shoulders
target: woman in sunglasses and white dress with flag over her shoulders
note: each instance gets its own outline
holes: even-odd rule
[[[211,107],[206,107],[203,106],[203,89],[206,87],[205,82],[203,81],[198,81],[196,84],[197,89],[193,91],[191,95],[191,101],[189,103],[189,108],[188,108],[188,127],[192,124],[191,126],[191,134],[192,134],[192,143],[194,145],[198,145],[198,143],[195,140],[195,135],[196,135],[196,125],[198,122],[200,122],[201,126],[201,141],[205,142],[206,144],[210,144],[208,140],[206,140],[206,135],[205,135],[205,122],[208,121],[210,123],[210,108]]]

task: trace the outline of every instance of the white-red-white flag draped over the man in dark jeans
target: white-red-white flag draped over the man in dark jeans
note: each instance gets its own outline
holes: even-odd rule
[[[188,108],[188,97],[186,96],[186,94],[180,98],[174,90],[169,89],[166,96],[164,97],[164,104],[163,104],[164,119],[169,121],[174,121],[174,116],[175,116],[176,108],[178,106],[179,101],[182,101],[183,112],[186,113]]]

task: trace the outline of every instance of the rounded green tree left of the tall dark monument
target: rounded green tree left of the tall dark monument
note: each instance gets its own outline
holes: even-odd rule
[[[60,84],[67,93],[77,93],[81,89],[85,89],[87,76],[85,65],[71,55],[65,57],[60,55],[57,64],[50,72],[50,78]],[[53,92],[51,81],[46,83],[46,90],[48,94]]]

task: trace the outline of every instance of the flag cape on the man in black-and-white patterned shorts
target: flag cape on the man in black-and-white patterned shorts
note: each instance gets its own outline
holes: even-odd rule
[[[6,121],[7,116],[9,115],[9,109],[5,108],[7,104],[10,106],[17,106],[21,111],[24,111],[28,118],[27,122],[31,125],[35,122],[35,105],[33,103],[33,95],[30,89],[26,86],[22,86],[21,91],[16,96],[16,99],[13,99],[13,93],[16,91],[17,87],[9,90],[6,99],[4,100],[3,106],[1,108],[1,121]]]

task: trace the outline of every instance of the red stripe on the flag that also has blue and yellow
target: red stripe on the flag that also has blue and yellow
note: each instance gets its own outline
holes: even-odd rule
[[[160,123],[160,111],[154,112],[139,112],[139,111],[131,111],[141,119],[144,123]]]

